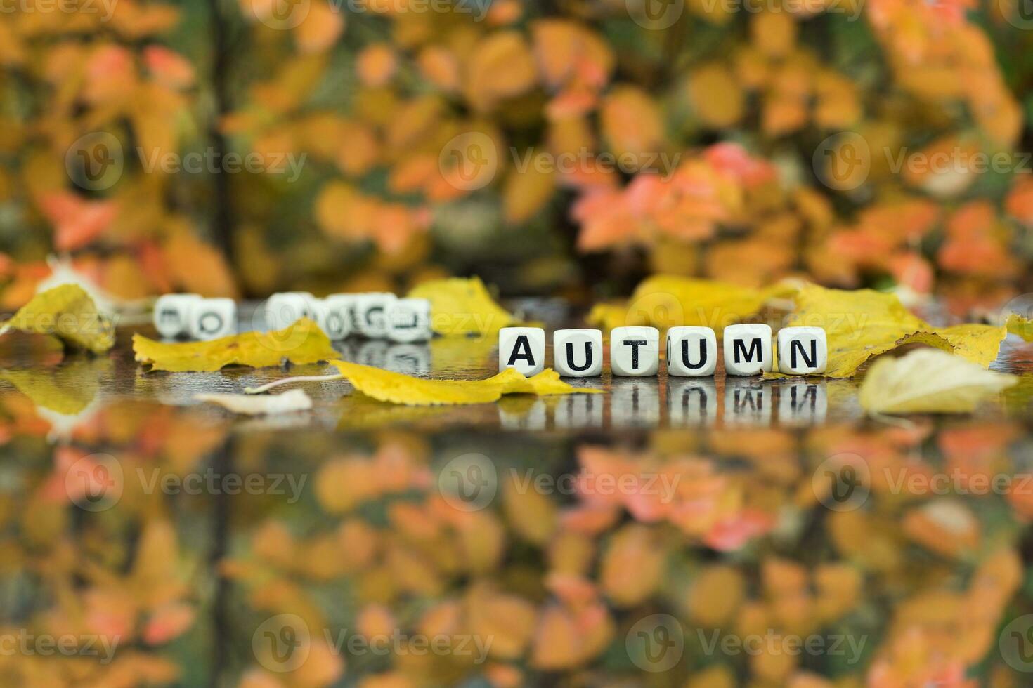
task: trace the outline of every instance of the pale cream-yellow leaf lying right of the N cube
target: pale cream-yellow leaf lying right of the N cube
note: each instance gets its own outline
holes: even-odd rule
[[[1015,375],[984,370],[961,356],[919,349],[901,358],[883,358],[860,386],[860,405],[886,414],[964,414],[980,398],[1019,382]]]

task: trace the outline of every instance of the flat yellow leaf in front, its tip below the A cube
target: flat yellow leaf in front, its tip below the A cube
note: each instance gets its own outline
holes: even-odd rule
[[[491,403],[503,394],[574,394],[599,390],[571,387],[547,368],[525,378],[511,368],[488,380],[424,380],[369,365],[331,361],[352,386],[374,399],[412,406]]]

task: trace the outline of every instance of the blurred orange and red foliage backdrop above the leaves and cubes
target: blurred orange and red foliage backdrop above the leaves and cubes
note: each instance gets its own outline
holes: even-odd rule
[[[50,254],[123,299],[473,272],[588,302],[662,271],[962,316],[1029,289],[1012,0],[650,2],[21,0],[0,301]]]

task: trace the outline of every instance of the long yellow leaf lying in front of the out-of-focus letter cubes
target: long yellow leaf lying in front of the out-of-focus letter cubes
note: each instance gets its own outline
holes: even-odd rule
[[[302,365],[337,358],[330,338],[307,318],[275,332],[245,332],[213,341],[164,343],[139,334],[132,337],[136,360],[152,370],[185,372],[219,370],[227,365],[263,368],[283,359]]]

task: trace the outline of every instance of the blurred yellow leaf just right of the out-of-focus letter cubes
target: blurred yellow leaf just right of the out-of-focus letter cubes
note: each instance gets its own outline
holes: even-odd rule
[[[479,277],[425,282],[409,298],[431,302],[431,328],[438,334],[487,334],[518,322],[495,302]]]

